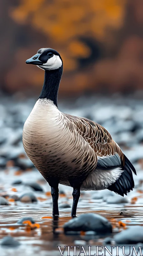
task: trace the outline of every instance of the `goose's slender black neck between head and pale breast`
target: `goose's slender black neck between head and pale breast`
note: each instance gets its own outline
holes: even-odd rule
[[[44,84],[38,99],[52,100],[57,107],[57,95],[62,74],[63,65],[58,69],[45,71]]]

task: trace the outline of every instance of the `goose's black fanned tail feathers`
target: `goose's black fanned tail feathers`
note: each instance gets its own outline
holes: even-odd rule
[[[132,172],[136,174],[135,168],[125,155],[123,170],[124,172],[122,172],[119,179],[108,187],[109,190],[114,191],[121,196],[124,196],[124,194],[127,195],[127,192],[130,192],[130,190],[134,188]]]

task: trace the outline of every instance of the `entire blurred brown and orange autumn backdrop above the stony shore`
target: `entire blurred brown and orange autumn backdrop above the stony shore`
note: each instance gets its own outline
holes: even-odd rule
[[[42,47],[60,52],[62,94],[143,89],[142,0],[0,2],[4,91],[39,92],[44,73],[25,64]]]

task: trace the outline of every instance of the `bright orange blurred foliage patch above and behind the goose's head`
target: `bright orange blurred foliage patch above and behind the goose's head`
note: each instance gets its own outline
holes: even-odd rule
[[[109,28],[122,26],[125,4],[126,0],[21,0],[10,14],[17,23],[43,33],[47,45],[41,47],[60,50],[64,70],[72,71],[79,58],[91,54],[81,38],[107,40]]]

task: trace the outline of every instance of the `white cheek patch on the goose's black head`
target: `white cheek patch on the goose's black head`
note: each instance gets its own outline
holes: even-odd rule
[[[43,65],[37,65],[37,66],[44,70],[58,69],[62,66],[62,60],[60,59],[59,56],[53,55],[53,57],[47,60],[46,63],[44,63]]]

